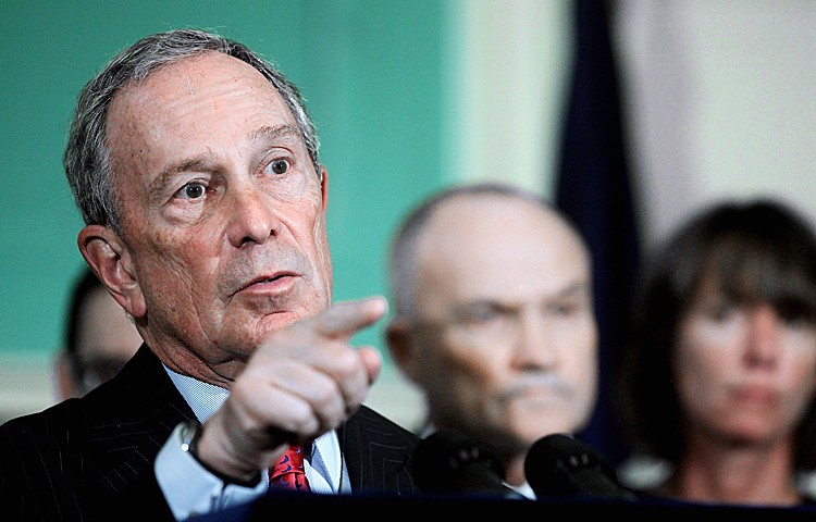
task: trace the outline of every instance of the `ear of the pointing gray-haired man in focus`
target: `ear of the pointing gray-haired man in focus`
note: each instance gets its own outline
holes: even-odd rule
[[[87,225],[79,231],[79,251],[111,296],[133,318],[147,313],[145,296],[133,268],[131,251],[112,228]]]

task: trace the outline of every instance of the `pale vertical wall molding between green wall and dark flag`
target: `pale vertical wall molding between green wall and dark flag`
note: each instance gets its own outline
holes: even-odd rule
[[[447,171],[548,197],[570,64],[568,2],[461,2],[450,18]]]

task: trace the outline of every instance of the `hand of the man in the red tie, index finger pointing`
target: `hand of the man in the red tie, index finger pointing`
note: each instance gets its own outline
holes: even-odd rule
[[[288,445],[339,426],[366,400],[382,368],[373,347],[349,340],[386,312],[381,297],[339,302],[270,335],[205,424],[198,458],[245,481]]]

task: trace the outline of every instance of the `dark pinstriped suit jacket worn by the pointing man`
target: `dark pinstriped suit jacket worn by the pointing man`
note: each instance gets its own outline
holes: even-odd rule
[[[153,461],[194,418],[145,345],[113,380],[81,399],[0,426],[2,520],[173,520]],[[413,494],[413,434],[362,407],[338,430],[355,493]]]

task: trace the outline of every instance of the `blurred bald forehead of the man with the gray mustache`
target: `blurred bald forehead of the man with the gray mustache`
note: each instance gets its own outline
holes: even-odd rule
[[[557,215],[511,198],[466,198],[438,209],[420,239],[420,278],[450,291],[554,296],[591,284],[581,241]],[[421,291],[421,290],[420,290]]]

